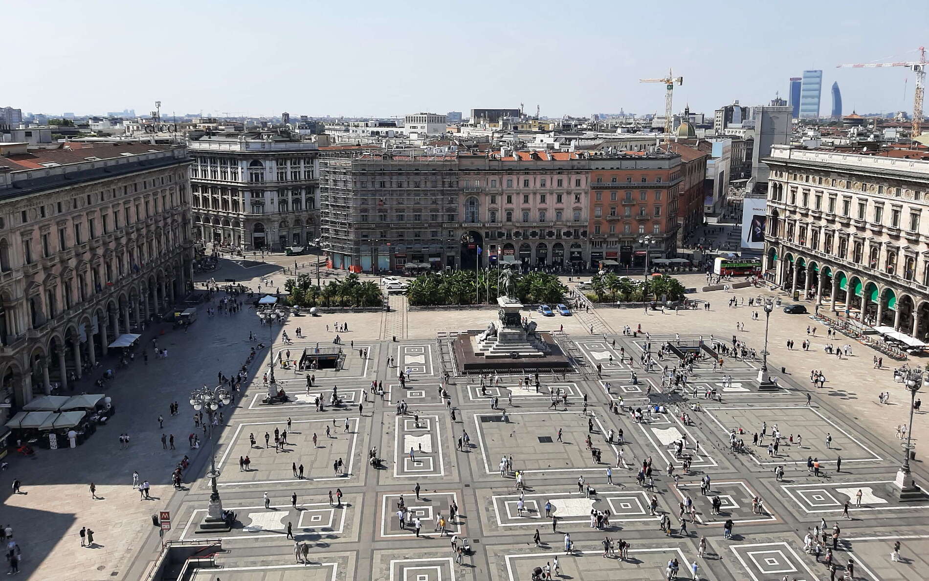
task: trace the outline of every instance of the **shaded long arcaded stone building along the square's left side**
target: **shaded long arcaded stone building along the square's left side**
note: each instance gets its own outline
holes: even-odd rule
[[[16,411],[67,389],[192,280],[187,149],[0,143],[0,378]]]

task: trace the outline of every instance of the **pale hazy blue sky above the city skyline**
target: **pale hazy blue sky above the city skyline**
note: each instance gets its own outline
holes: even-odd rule
[[[7,0],[0,106],[23,112],[390,116],[512,107],[589,115],[664,108],[712,114],[763,104],[823,70],[844,112],[911,111],[925,0],[703,2],[533,0]],[[909,83],[905,82],[909,79]]]

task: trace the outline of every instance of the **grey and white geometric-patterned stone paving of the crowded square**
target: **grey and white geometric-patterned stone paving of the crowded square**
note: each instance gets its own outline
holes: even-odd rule
[[[224,272],[216,278],[231,274],[229,278],[246,283],[255,278],[253,273],[241,271],[244,269]],[[269,265],[262,273],[280,276]],[[694,277],[696,282],[699,278]],[[241,336],[247,337],[250,330],[259,337],[273,337],[277,353],[312,348],[318,342],[332,345],[334,324],[349,325],[350,330],[340,334],[347,354],[342,370],[317,371],[314,385],[307,389],[305,373],[275,369],[281,386],[293,397],[292,402],[261,403],[266,392],[261,377],[268,369],[269,350],[260,351],[264,359],[249,368],[247,389],[233,404],[234,409],[224,415],[216,441],[216,462],[221,470],[219,492],[224,507],[237,513],[238,522],[229,533],[216,535],[222,539],[222,550],[216,554],[220,568],[201,570],[193,577],[204,581],[215,581],[217,577],[221,581],[530,581],[535,567],[552,564],[556,559],[560,576],[555,578],[585,581],[661,580],[668,561],[674,559],[679,563],[681,578],[690,578],[690,565],[697,563],[700,579],[779,581],[787,575],[789,579],[812,581],[829,578],[825,566],[806,554],[803,547],[807,529],[820,519],[825,519],[830,528],[838,523],[842,529],[835,550],[840,573],[851,558],[856,562],[859,579],[923,578],[929,566],[929,535],[923,533],[929,499],[901,502],[892,489],[902,456],[894,427],[909,421],[909,403],[904,402],[904,390],[893,384],[888,369],[869,369],[870,351],[856,344],[854,356],[847,361],[826,358],[821,353],[828,342],[820,337],[823,329],[813,338],[814,350],[787,350],[786,338],[795,337],[798,342],[805,338],[804,329],[811,320],[776,311],[771,319],[768,363],[779,378],[779,390],[757,390],[754,378],[760,362],[726,357],[722,371],[713,371],[708,364],[697,365],[687,391],[673,394],[662,389],[660,374],[648,373],[639,364],[648,340],[641,335],[622,334],[623,326],[636,329],[642,324],[654,351],[678,334],[682,340],[699,340],[702,336],[704,340],[729,341],[735,323],[745,322],[746,331],[738,332],[738,338],[761,352],[764,320],[754,321],[749,307],[726,307],[729,297],[759,294],[779,296],[760,289],[699,293],[695,297],[710,300],[712,310],[669,311],[663,315],[594,309],[553,319],[527,312],[525,315],[538,322],[540,328],[573,343],[583,361],[566,375],[543,374],[539,390],[534,385],[527,387],[521,376],[501,376],[499,385],[495,382],[481,390],[477,376],[457,376],[449,367],[448,350],[443,347],[448,334],[485,327],[495,317],[495,310],[292,317],[285,328],[294,341],[287,345],[281,343],[280,327],[268,330],[258,325],[250,312],[239,315],[241,321],[204,316],[190,334],[172,336],[177,346],[172,349],[170,367],[132,371],[139,374],[138,385],[148,386],[143,374],[159,370],[161,379],[170,376],[174,383],[159,391],[161,388],[154,386],[164,382],[159,383],[156,377],[152,388],[146,387],[139,394],[148,399],[142,399],[131,411],[136,417],[152,416],[152,406],[166,409],[169,400],[186,402],[190,389],[208,381],[207,376],[215,379],[216,369],[212,367],[228,373],[241,363],[250,345]],[[403,300],[392,298],[392,302],[405,306]],[[590,332],[591,324],[595,325],[594,333]],[[296,327],[301,327],[307,338],[296,338]],[[621,361],[622,355],[625,361]],[[396,363],[388,365],[388,358]],[[602,365],[599,376],[595,372],[597,363]],[[674,361],[665,359],[663,363]],[[783,373],[782,366],[786,368]],[[401,369],[409,371],[405,386],[398,380]],[[810,369],[825,371],[829,381],[824,389],[813,388],[805,381]],[[451,406],[439,392],[446,371],[452,373],[446,386]],[[185,374],[198,378],[185,379]],[[724,374],[732,380],[726,382]],[[369,392],[373,380],[383,382],[383,400]],[[552,407],[550,389],[566,393],[567,404]],[[722,402],[704,397],[705,390],[710,389],[722,394]],[[342,405],[329,404],[333,390],[343,399]],[[892,391],[890,405],[876,403],[876,394],[882,390]],[[808,406],[807,392],[812,395]],[[321,412],[313,403],[317,396],[326,402]],[[647,413],[638,423],[628,413],[611,413],[610,405],[621,398],[626,406],[646,408],[649,403],[658,404],[665,406],[664,411]],[[504,409],[492,409],[494,399]],[[399,402],[406,403],[406,414],[398,413]],[[695,402],[702,410],[691,409]],[[172,428],[176,434],[192,429],[187,407],[182,403],[181,416],[169,420],[177,423]],[[681,417],[685,412],[689,422]],[[915,436],[922,434],[922,416],[916,416]],[[282,450],[276,450],[273,441],[266,445],[264,434],[285,429],[288,419],[291,428],[287,445]],[[150,418],[145,421],[150,422]],[[761,430],[763,423],[768,434],[776,426],[783,436],[774,456],[768,455],[769,439],[752,445],[752,435]],[[622,442],[607,441],[610,431],[615,434],[621,429]],[[734,429],[743,432],[739,437],[748,444],[748,452],[730,450],[729,433]],[[160,432],[146,429],[134,445],[150,445],[152,452],[155,448],[161,452],[157,444]],[[255,445],[250,442],[250,434],[255,436]],[[801,436],[800,442],[797,436]],[[828,444],[827,436],[831,436]],[[588,437],[600,453],[599,461],[588,449]],[[459,447],[460,438],[463,444]],[[687,473],[683,473],[676,456],[679,441],[684,442],[684,453],[690,460]],[[81,502],[72,498],[67,508],[54,504],[53,496],[57,492],[70,495],[72,489],[83,495],[85,480],[92,477],[82,472],[80,478],[75,476],[69,481],[67,471],[44,474],[34,469],[34,464],[25,465],[28,460],[10,459],[10,475],[5,477],[32,469],[31,478],[23,480],[35,491],[7,499],[7,506],[23,511],[20,521],[14,521],[15,527],[27,529],[26,515],[32,515],[31,510],[76,515],[73,522],[57,524],[61,538],[66,539],[56,547],[56,552],[62,552],[41,563],[24,561],[23,568],[37,575],[35,578],[75,578],[67,570],[52,566],[66,561],[71,554],[76,555],[72,562],[74,571],[80,571],[78,578],[145,578],[161,541],[201,540],[202,535],[195,531],[210,493],[209,480],[204,476],[209,468],[209,445],[188,450],[185,442],[180,446],[184,450],[172,453],[161,468],[165,470],[164,479],[152,477],[158,499],[150,503],[139,503],[136,493],[129,489],[128,474],[133,467],[119,456],[118,450],[111,451],[114,445],[92,439],[77,450],[84,455],[97,454],[82,462],[97,462],[111,470],[113,476],[111,482],[98,486],[105,500],[84,503],[83,497]],[[96,453],[95,446],[100,447]],[[373,448],[385,460],[382,468],[374,468],[367,461]],[[193,465],[184,489],[173,491],[164,482],[170,466],[182,454],[189,454]],[[240,456],[249,456],[248,470],[237,466]],[[522,473],[523,489],[517,488],[514,472],[501,473],[504,456],[512,456],[513,469]],[[620,456],[622,461],[618,462]],[[839,456],[841,471],[836,470]],[[918,449],[913,466],[917,481],[925,482],[921,456]],[[146,452],[140,461],[150,457],[160,456]],[[807,470],[807,457],[818,458],[820,476]],[[334,462],[339,458],[345,468],[335,470]],[[636,482],[637,468],[648,458],[654,470],[653,490]],[[76,471],[81,472],[84,464],[77,465]],[[680,476],[676,485],[674,478],[667,476],[669,464]],[[294,465],[305,467],[303,478],[294,475]],[[779,466],[785,471],[782,480],[775,478],[774,469]],[[612,483],[608,483],[608,467]],[[707,495],[700,491],[704,476],[712,479]],[[43,478],[49,482],[43,482]],[[584,482],[580,491],[579,478]],[[586,485],[594,489],[589,495]],[[39,492],[40,486],[49,487],[47,500],[43,500],[46,495]],[[857,506],[859,490],[862,502]],[[712,510],[711,499],[715,496],[721,501],[718,514]],[[650,508],[653,497],[657,502],[654,514]],[[763,500],[762,510],[753,508],[755,497]],[[678,515],[681,503],[687,499],[694,504],[696,513],[693,522],[687,517],[687,534],[681,535]],[[850,518],[843,519],[840,517],[846,501],[851,504]],[[410,520],[402,525],[397,517],[400,503],[409,508]],[[546,504],[550,507],[548,517]],[[457,508],[453,518],[452,507]],[[111,514],[104,515],[101,510]],[[157,510],[170,510],[172,514],[172,528],[164,539],[148,518]],[[608,525],[603,530],[591,526],[591,510],[609,511]],[[122,528],[113,529],[114,538],[107,539],[105,552],[97,553],[96,559],[78,552],[84,549],[75,548],[77,542],[72,535],[82,523],[92,517],[100,523],[95,527],[98,530],[106,526],[105,522],[120,520],[118,515],[124,515],[119,523]],[[660,530],[663,515],[670,517],[670,535]],[[34,518],[41,521],[46,513]],[[439,518],[445,520],[444,532],[437,530]],[[411,528],[415,519],[422,524],[419,535]],[[731,539],[723,535],[726,520],[734,522]],[[309,562],[294,559],[294,540],[286,534],[288,523],[294,540],[309,545]],[[119,533],[121,530],[126,534]],[[538,547],[533,542],[536,530],[542,541]],[[570,554],[564,548],[566,534],[573,542]],[[451,550],[451,535],[457,535],[459,540],[466,537],[472,548],[460,562]],[[620,539],[629,543],[628,556],[605,558],[601,544],[605,536],[614,543]],[[702,537],[706,538],[707,549],[699,556]],[[898,562],[889,557],[896,541],[902,543]],[[35,539],[33,546],[39,548],[41,542]],[[24,554],[29,554],[27,548],[28,541],[24,543]]]

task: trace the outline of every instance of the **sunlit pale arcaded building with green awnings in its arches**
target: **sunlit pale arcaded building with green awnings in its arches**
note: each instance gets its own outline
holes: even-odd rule
[[[776,145],[765,276],[820,309],[929,337],[929,162]]]

